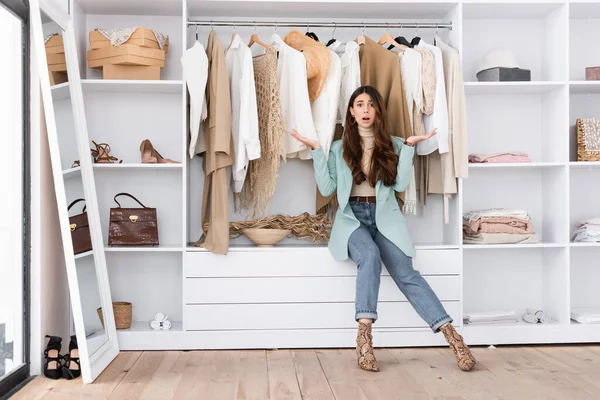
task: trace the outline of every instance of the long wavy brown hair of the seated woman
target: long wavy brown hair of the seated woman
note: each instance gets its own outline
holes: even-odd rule
[[[361,160],[363,148],[358,133],[358,123],[350,113],[350,108],[354,107],[354,100],[363,93],[371,96],[376,110],[375,121],[373,123],[375,140],[371,164],[369,166],[369,176],[365,176],[365,173],[362,171]],[[373,187],[375,187],[377,181],[382,181],[385,186],[393,186],[396,183],[398,156],[394,152],[394,144],[392,143],[386,122],[386,111],[382,103],[381,95],[373,86],[359,87],[352,93],[348,102],[342,148],[344,160],[350,167],[352,179],[357,185],[365,180]]]

